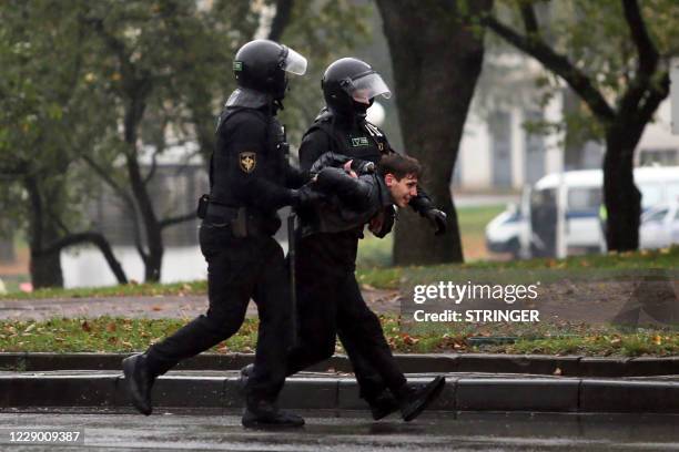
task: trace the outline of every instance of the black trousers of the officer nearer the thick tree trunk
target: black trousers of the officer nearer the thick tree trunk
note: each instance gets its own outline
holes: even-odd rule
[[[300,340],[288,356],[287,374],[332,357],[338,332],[361,394],[369,401],[385,388],[396,392],[406,379],[392,356],[379,319],[361,295],[353,270],[355,250],[352,259],[351,247],[351,240],[335,242],[330,235],[312,235],[300,242],[296,261]],[[342,256],[347,251],[349,261],[346,255]]]

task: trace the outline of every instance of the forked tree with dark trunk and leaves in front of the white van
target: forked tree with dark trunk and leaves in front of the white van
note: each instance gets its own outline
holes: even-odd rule
[[[608,249],[637,249],[641,195],[634,182],[634,152],[669,93],[669,56],[679,51],[679,3],[513,0],[500,6],[483,23],[538,60],[587,105],[581,123],[594,125],[606,143]]]

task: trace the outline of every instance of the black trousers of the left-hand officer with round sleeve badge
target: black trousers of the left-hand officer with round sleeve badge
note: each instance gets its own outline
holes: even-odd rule
[[[210,307],[163,341],[151,346],[149,364],[161,374],[233,336],[245,319],[247,304],[257,305],[260,329],[255,372],[245,388],[249,402],[274,401],[285,381],[291,304],[287,268],[272,237],[234,238],[227,226],[203,223],[201,251],[207,260]]]

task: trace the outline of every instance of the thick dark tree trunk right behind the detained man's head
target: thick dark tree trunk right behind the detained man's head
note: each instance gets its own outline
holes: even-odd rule
[[[469,2],[469,16],[491,6],[491,0]],[[403,213],[394,263],[463,261],[450,177],[482,70],[483,37],[459,22],[455,1],[377,0],[377,7],[392,54],[406,153],[424,165],[422,185],[449,219],[448,232],[437,237],[428,222]]]

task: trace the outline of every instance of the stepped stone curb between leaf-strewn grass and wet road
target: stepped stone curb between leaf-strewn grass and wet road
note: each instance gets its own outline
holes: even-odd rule
[[[16,362],[23,359],[27,366],[24,371],[0,372],[0,410],[34,410],[48,407],[79,408],[84,411],[130,410],[124,393],[124,380],[119,370],[122,356],[100,356],[98,362],[101,366],[98,369],[107,369],[93,370],[84,366],[95,363],[97,356],[93,353],[61,357],[50,353],[38,355],[0,356],[4,369],[8,369],[7,363],[11,359]],[[612,366],[612,369],[626,370],[630,374],[632,373],[630,369],[646,369],[646,374],[620,376],[616,379],[594,374],[576,377],[568,371],[561,371],[560,376],[540,374],[529,373],[527,370],[539,370],[537,363],[547,369],[557,361],[570,366],[579,363],[578,366],[584,366],[582,370],[596,370],[609,368],[616,361],[581,357],[458,355],[398,356],[397,360],[406,371],[408,380],[414,382],[428,381],[434,374],[446,376],[445,390],[432,410],[679,413],[679,372],[677,371],[679,358],[668,358],[662,361],[618,360],[618,366]],[[226,412],[242,407],[241,383],[236,369],[250,361],[252,361],[250,355],[206,355],[188,361],[181,370],[159,378],[153,392],[154,405],[159,408],[156,412],[183,409]],[[43,367],[48,367],[45,364],[51,362],[52,369],[61,364],[62,369],[39,371],[36,368],[40,362]],[[641,364],[642,362],[646,364]],[[113,363],[118,363],[118,367]],[[217,370],[210,370],[211,366],[217,367]],[[341,371],[345,366],[347,366],[346,358],[334,357],[318,367],[325,367],[324,370],[331,368],[334,370],[332,372],[303,372],[290,378],[281,394],[281,405],[314,410],[365,409],[365,403],[358,398],[353,376]],[[450,366],[455,366],[456,370],[446,370]],[[513,371],[521,366],[523,373]],[[29,370],[29,367],[33,369]],[[190,370],[191,367],[194,369]],[[494,369],[478,370],[483,367],[494,367]],[[648,371],[662,367],[667,371],[665,374]],[[564,369],[569,368],[565,366]]]

